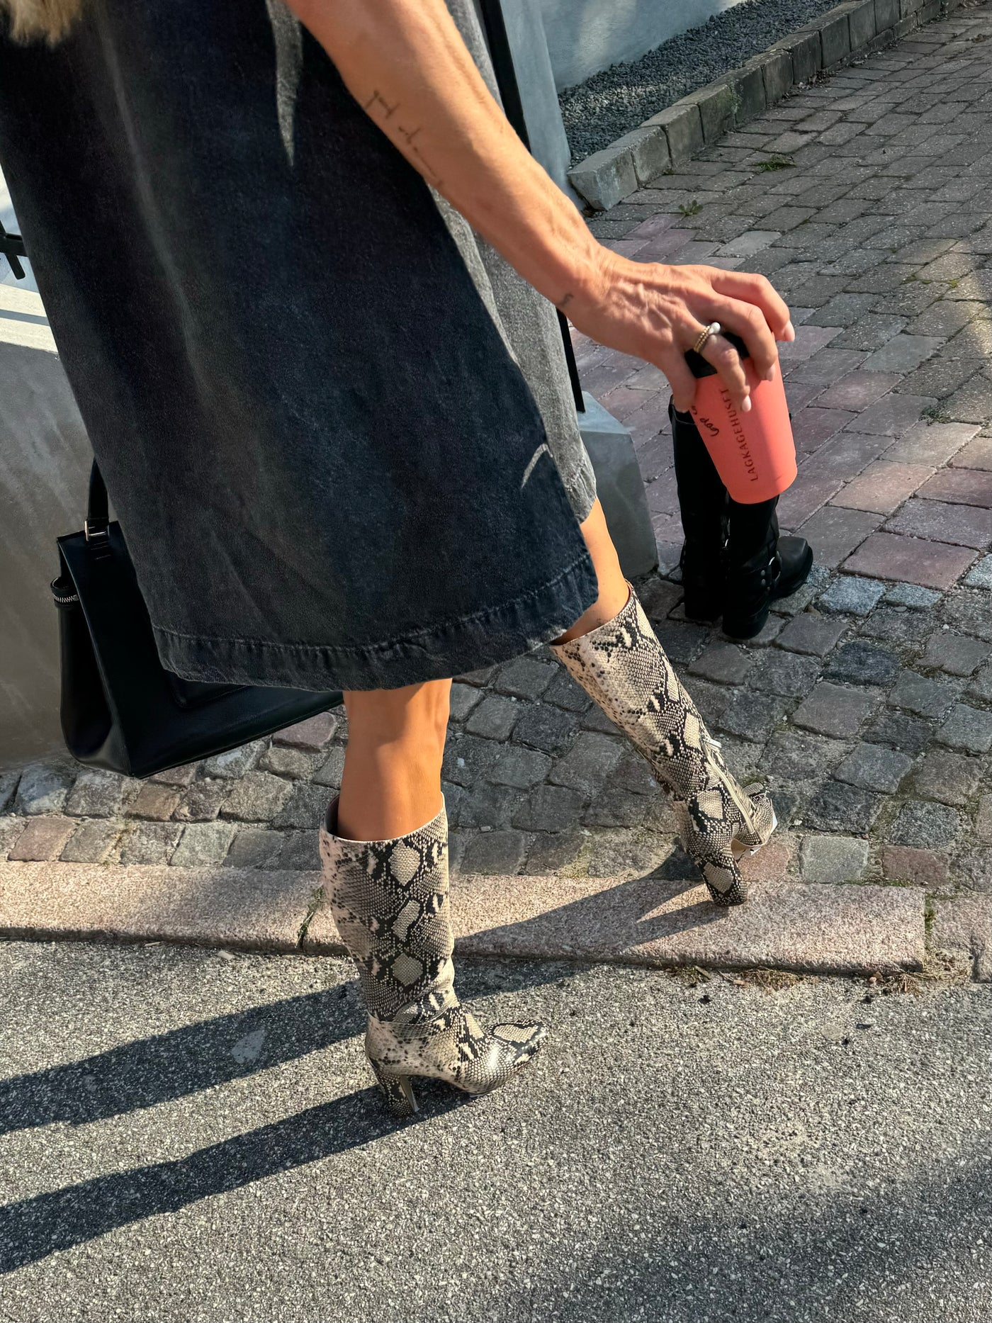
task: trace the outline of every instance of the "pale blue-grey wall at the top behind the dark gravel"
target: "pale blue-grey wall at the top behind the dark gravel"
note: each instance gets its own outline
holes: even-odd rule
[[[698,28],[743,0],[533,0],[544,13],[558,87],[573,87],[623,60]]]

